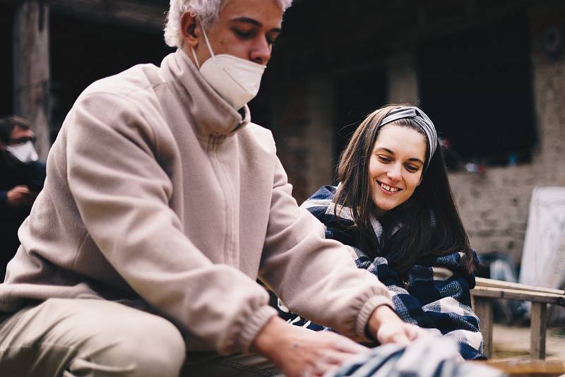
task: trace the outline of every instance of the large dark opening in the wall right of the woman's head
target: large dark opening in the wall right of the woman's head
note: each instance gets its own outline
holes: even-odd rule
[[[418,71],[422,108],[448,138],[451,167],[530,160],[537,133],[525,15],[424,44]]]

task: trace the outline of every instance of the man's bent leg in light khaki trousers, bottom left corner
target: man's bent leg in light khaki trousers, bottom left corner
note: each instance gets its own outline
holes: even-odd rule
[[[15,317],[3,329],[3,347],[31,345],[40,354],[16,352],[2,364],[17,361],[18,371],[30,376],[62,368],[71,375],[177,377],[185,357],[172,323],[115,302],[50,299]]]

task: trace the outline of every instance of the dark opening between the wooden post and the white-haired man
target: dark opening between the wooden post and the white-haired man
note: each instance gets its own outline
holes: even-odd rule
[[[52,12],[53,136],[76,97],[95,80],[135,64],[153,63],[173,50],[162,30],[78,18]]]

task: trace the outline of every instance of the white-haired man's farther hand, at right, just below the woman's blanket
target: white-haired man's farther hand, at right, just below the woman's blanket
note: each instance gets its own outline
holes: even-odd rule
[[[386,343],[409,345],[418,337],[428,335],[422,328],[403,322],[393,309],[386,305],[375,309],[367,325],[381,345]]]

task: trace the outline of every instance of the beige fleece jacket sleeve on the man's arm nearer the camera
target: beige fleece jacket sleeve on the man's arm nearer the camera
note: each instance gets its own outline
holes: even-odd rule
[[[151,114],[105,93],[83,95],[69,116],[69,187],[105,258],[189,337],[222,354],[247,351],[276,311],[257,282],[212,263],[185,236]]]

